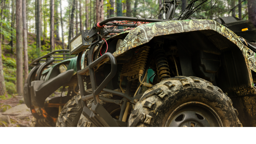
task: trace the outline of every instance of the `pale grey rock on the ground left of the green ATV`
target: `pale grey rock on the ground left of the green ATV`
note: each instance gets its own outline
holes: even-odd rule
[[[29,115],[29,114],[31,114],[30,109],[25,104],[17,105],[2,113],[2,115],[11,115],[11,116]]]

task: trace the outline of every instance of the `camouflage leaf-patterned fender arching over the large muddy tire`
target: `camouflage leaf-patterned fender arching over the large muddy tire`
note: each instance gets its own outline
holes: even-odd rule
[[[183,33],[190,31],[198,31],[198,30],[213,30],[230,41],[236,44],[240,50],[243,52],[245,60],[250,67],[251,70],[256,72],[256,58],[255,53],[250,50],[247,46],[242,44],[239,37],[228,28],[219,24],[214,20],[178,20],[178,21],[166,21],[166,22],[155,22],[155,23],[147,23],[142,24],[136,27],[133,30],[125,31],[123,33],[129,32],[129,34],[125,37],[123,43],[120,47],[113,53],[115,57],[120,54],[135,48],[137,46],[148,43],[153,37],[170,35],[175,33]],[[118,35],[120,35],[118,34]],[[113,36],[116,37],[117,35]]]

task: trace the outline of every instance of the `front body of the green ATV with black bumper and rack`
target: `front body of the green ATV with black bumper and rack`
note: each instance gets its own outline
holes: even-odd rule
[[[56,55],[57,52],[62,51],[66,50],[57,50],[52,54]],[[59,60],[59,58],[65,59]],[[39,63],[39,61],[46,62]],[[61,62],[52,64],[54,61]],[[30,71],[24,86],[24,101],[34,116],[33,123],[36,124],[34,126],[55,126],[59,109],[76,95],[78,91],[76,61],[77,57],[52,57],[47,54],[30,64],[34,68]],[[62,94],[62,97],[52,96],[48,98],[61,86],[68,87],[67,96]],[[46,100],[46,98],[48,99]]]

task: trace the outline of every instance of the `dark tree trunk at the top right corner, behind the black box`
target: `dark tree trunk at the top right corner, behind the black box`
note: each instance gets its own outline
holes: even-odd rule
[[[256,1],[248,0],[248,19],[252,22],[254,27],[256,28]]]

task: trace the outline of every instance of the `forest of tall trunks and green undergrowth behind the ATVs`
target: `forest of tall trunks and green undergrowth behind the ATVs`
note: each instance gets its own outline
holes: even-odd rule
[[[190,2],[181,0],[174,17]],[[154,17],[162,5],[163,0],[1,0],[0,100],[22,95],[32,69],[28,64],[53,50],[68,49],[68,41],[81,30],[114,16]],[[256,0],[218,0],[190,19],[224,16],[249,20],[256,27]],[[155,18],[162,19],[162,13]]]

